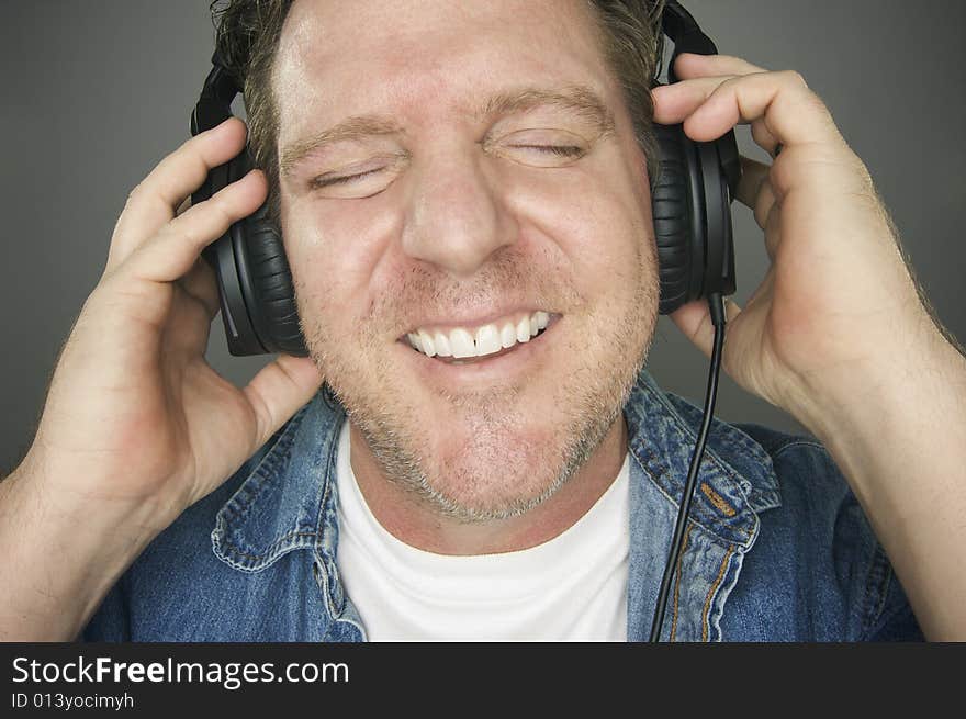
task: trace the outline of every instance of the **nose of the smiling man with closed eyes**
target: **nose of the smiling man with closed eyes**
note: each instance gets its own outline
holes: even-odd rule
[[[516,241],[517,226],[502,205],[495,176],[479,146],[450,146],[424,157],[412,173],[403,251],[452,277],[473,276],[501,247]]]

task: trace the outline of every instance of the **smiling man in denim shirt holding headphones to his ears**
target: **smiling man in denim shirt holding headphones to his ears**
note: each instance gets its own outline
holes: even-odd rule
[[[7,638],[647,636],[699,417],[640,370],[653,157],[614,4],[263,3],[268,182],[176,212],[243,148],[228,121],[132,193],[0,485]],[[801,78],[676,69],[656,122],[782,147],[739,192],[772,267],[724,369],[834,463],[716,424],[662,638],[966,638],[963,356]],[[238,391],[203,361],[198,257],[269,187],[312,357]],[[674,321],[709,352],[703,302]]]

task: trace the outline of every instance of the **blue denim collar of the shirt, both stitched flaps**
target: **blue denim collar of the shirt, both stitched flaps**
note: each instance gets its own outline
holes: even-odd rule
[[[642,370],[625,405],[633,460],[669,501],[684,492],[701,411],[662,391]],[[336,450],[345,409],[328,385],[236,474],[238,490],[215,519],[212,546],[232,566],[256,572],[295,549],[335,562],[338,542]],[[632,478],[634,473],[632,472]],[[755,510],[778,506],[768,453],[739,428],[714,419],[692,520],[722,539],[753,541]],[[336,597],[337,604],[341,603]]]

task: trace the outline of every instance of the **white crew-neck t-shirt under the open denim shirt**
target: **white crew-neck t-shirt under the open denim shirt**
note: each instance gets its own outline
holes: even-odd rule
[[[337,563],[370,641],[625,641],[629,464],[572,527],[515,552],[446,555],[411,547],[372,515],[338,450]]]

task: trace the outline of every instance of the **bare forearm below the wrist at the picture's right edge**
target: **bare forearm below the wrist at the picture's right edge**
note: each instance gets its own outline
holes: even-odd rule
[[[962,641],[966,359],[939,333],[929,337],[802,420],[849,479],[926,637]]]

